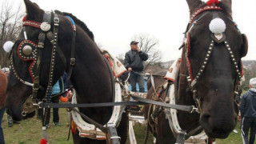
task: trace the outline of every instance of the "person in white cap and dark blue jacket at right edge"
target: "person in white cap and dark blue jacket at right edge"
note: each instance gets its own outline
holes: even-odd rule
[[[242,95],[240,105],[242,117],[242,142],[244,144],[254,144],[256,134],[256,78],[251,78],[250,90]],[[248,141],[248,131],[250,129],[250,140]]]

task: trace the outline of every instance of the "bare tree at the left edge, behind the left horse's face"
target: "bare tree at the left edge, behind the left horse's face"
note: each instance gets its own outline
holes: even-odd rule
[[[14,10],[14,2],[4,0],[0,10],[0,65],[8,66],[9,61],[6,52],[2,49],[6,41],[13,41],[18,37],[22,29],[21,4]]]

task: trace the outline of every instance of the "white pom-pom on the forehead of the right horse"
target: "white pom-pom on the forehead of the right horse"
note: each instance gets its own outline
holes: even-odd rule
[[[222,34],[226,30],[226,24],[221,18],[214,18],[210,21],[209,28],[214,34]]]

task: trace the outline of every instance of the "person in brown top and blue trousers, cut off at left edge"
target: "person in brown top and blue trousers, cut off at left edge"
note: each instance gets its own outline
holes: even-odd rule
[[[6,87],[7,87],[7,78],[0,70],[0,143],[5,144],[5,138],[2,130],[2,117],[5,113],[5,102],[6,102]]]

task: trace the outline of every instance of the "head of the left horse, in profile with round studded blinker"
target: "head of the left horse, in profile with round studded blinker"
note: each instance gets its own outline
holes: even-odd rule
[[[22,20],[23,29],[12,46],[12,68],[6,91],[6,111],[15,120],[34,116],[34,109],[26,105],[33,107],[33,103],[42,99],[50,102],[50,97],[46,98],[46,95],[51,94],[51,86],[64,71],[71,70],[75,61],[72,59],[74,54],[71,54],[76,53],[75,50],[71,52],[76,41],[74,34],[77,38],[84,36],[79,39],[87,45],[84,50],[90,46],[98,52],[94,35],[72,14],[56,10],[46,12],[29,0],[24,2],[26,17]],[[78,27],[74,26],[74,21]],[[82,46],[81,43],[76,45]]]

